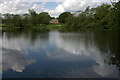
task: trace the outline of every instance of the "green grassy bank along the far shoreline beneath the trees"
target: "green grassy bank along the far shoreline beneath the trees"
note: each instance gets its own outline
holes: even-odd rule
[[[0,30],[40,30],[40,31],[48,31],[48,30],[59,30],[59,31],[73,31],[79,32],[81,30],[118,30],[118,29],[99,29],[99,28],[76,28],[76,29],[69,29],[66,28],[64,24],[48,24],[48,25],[37,25],[32,27],[18,27],[18,26],[3,26],[0,27]]]

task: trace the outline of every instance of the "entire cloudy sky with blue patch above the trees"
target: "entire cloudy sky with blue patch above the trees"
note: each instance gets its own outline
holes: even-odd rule
[[[24,14],[28,9],[34,9],[37,13],[48,12],[52,17],[58,17],[65,11],[83,11],[87,6],[97,7],[111,2],[117,0],[2,0],[0,13]]]

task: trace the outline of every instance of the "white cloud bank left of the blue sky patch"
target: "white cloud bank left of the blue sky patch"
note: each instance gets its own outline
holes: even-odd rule
[[[28,9],[35,9],[37,12],[44,11],[44,5],[33,2],[0,2],[0,13],[23,14]]]

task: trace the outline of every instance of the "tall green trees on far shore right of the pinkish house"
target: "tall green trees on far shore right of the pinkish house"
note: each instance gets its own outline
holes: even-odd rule
[[[96,8],[87,7],[85,11],[64,12],[59,21],[65,23],[63,30],[115,29],[120,30],[120,1],[102,4]]]

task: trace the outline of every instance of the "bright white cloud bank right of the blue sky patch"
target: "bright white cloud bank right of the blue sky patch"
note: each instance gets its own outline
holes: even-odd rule
[[[58,16],[65,11],[79,11],[85,10],[86,7],[97,7],[102,3],[110,3],[112,0],[56,0],[59,4],[54,10],[50,10],[49,13],[52,16]],[[115,1],[117,2],[117,0]]]

